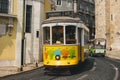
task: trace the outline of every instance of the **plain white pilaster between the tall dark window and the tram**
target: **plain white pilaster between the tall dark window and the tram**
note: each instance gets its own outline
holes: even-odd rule
[[[34,1],[33,2],[33,55],[34,55],[34,61],[38,62],[40,59],[40,39],[39,36],[37,36],[37,32],[40,33],[40,26],[41,22],[43,21],[43,3]]]

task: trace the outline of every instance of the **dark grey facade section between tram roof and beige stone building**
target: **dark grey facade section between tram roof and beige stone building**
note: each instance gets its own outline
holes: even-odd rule
[[[78,16],[90,29],[90,39],[95,37],[95,0],[78,0]]]

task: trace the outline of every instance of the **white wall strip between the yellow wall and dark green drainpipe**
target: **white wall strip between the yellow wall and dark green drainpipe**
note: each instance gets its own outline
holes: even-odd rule
[[[23,21],[23,0],[18,0],[17,14],[17,35],[16,35],[16,65],[21,67],[21,40],[22,40],[22,21]]]

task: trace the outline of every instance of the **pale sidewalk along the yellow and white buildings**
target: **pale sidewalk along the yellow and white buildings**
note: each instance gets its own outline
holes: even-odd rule
[[[22,73],[22,72],[25,72],[25,71],[29,71],[29,70],[32,70],[32,69],[39,68],[39,67],[43,67],[42,62],[38,63],[37,67],[36,67],[36,64],[27,64],[23,67],[23,71],[19,71],[18,67],[16,67],[16,66],[0,67],[0,77],[13,75],[13,74],[17,74],[17,73]]]

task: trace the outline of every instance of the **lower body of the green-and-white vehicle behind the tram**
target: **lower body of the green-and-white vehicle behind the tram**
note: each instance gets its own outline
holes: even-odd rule
[[[106,49],[103,45],[94,45],[89,49],[90,56],[105,56]]]

